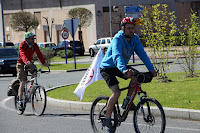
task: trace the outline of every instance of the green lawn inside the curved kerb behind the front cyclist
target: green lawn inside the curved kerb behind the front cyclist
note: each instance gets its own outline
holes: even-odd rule
[[[200,74],[197,74],[200,76]],[[184,78],[184,73],[169,73],[170,83],[159,83],[153,80],[142,85],[149,97],[157,99],[164,107],[200,109],[200,77]],[[126,87],[129,80],[119,79],[119,86]],[[73,94],[78,84],[65,86],[47,93],[49,97],[63,100],[79,101]],[[122,103],[127,93],[123,91],[119,98]],[[104,80],[92,83],[86,88],[82,102],[92,102],[99,95],[110,96],[111,92]],[[136,97],[135,103],[138,102]]]

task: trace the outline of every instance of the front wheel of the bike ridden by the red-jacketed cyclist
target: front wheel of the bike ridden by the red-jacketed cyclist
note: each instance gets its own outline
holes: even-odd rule
[[[35,115],[41,116],[46,108],[46,91],[43,86],[35,86],[33,89],[31,103]]]

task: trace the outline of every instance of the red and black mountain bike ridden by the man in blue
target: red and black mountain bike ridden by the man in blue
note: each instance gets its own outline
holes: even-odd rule
[[[113,127],[116,128],[125,122],[130,106],[138,95],[139,102],[134,110],[133,123],[136,133],[153,132],[153,133],[164,133],[166,126],[166,118],[164,110],[161,104],[154,98],[147,97],[147,93],[142,90],[141,84],[151,82],[153,75],[151,72],[138,73],[136,75],[138,83],[132,85],[135,87],[135,92],[132,94],[130,101],[128,102],[123,113],[120,113],[119,103],[117,102],[114,106],[114,110],[111,116],[111,122]],[[125,87],[120,89],[121,91],[128,89]],[[142,95],[141,95],[142,94]],[[106,109],[108,96],[98,96],[92,103],[90,110],[90,121],[92,129],[95,133],[104,132],[102,123],[106,117]]]

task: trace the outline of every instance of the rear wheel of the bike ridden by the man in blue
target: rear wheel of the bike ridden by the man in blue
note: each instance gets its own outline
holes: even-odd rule
[[[107,102],[109,97],[107,96],[99,96],[92,103],[92,107],[90,110],[90,122],[94,133],[102,133],[105,132],[105,129],[102,126],[103,120],[106,118],[107,112]],[[116,111],[113,111],[111,116],[112,125],[116,129]]]

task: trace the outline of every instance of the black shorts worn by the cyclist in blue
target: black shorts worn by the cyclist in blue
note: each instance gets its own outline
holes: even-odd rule
[[[128,69],[132,69],[135,72],[138,72],[136,69],[128,66]],[[104,78],[104,80],[106,81],[108,87],[112,87],[113,85],[119,84],[119,81],[117,80],[117,77],[123,78],[125,80],[127,80],[128,78],[126,78],[124,76],[124,74],[118,69],[118,68],[108,68],[108,69],[100,69],[100,73],[102,75],[102,77]]]

